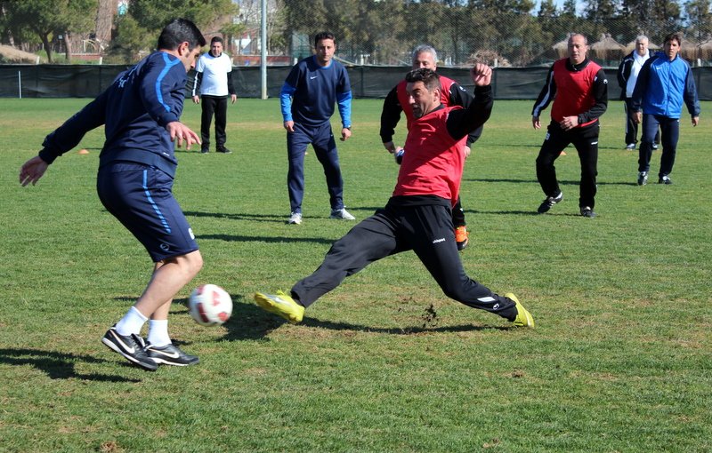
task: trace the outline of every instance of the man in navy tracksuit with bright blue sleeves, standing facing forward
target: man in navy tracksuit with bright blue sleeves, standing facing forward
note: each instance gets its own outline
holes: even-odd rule
[[[289,157],[287,189],[291,214],[288,223],[295,225],[302,223],[304,154],[310,143],[327,177],[331,219],[354,219],[344,208],[344,180],[329,123],[337,103],[343,125],[341,140],[351,137],[351,83],[346,68],[333,60],[334,35],[318,34],[314,37],[314,48],[316,54],[292,68],[279,93]]]

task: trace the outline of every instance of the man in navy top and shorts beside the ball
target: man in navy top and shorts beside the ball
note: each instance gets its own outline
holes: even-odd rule
[[[175,294],[203,266],[195,235],[172,188],[178,147],[199,143],[181,123],[190,68],[206,44],[190,20],[172,20],[158,37],[158,51],[117,76],[106,91],[49,134],[43,149],[20,169],[20,184],[33,185],[85,133],[104,125],[96,187],[101,203],[142,243],[154,262],[148,286],[134,306],[101,339],[145,370],[158,363],[191,365],[168,336],[168,311]],[[149,322],[148,343],[141,337]]]

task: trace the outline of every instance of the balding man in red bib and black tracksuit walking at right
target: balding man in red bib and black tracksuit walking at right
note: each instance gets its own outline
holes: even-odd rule
[[[531,112],[531,123],[534,129],[539,129],[539,115],[554,99],[551,123],[537,157],[537,179],[546,195],[538,213],[549,211],[563,200],[554,161],[572,143],[581,161],[578,207],[582,216],[593,218],[598,174],[598,118],[608,107],[608,80],[603,68],[588,60],[586,36],[569,36],[568,52],[567,58],[554,61]]]

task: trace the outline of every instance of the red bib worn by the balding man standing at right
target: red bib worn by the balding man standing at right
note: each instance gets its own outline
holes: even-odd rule
[[[566,68],[567,59],[554,62],[554,83],[556,83],[556,99],[551,107],[551,118],[561,123],[564,116],[578,116],[595,106],[594,82],[601,67],[590,61],[586,68],[580,71],[570,71]],[[578,124],[584,127],[593,124],[598,118],[587,123]]]

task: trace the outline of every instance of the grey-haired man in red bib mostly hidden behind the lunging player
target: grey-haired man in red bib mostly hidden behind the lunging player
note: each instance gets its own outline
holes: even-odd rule
[[[438,54],[435,49],[426,44],[420,44],[413,50],[412,69],[427,68],[436,71],[438,68]],[[460,106],[467,108],[473,101],[465,89],[457,82],[445,76],[440,76],[441,83],[441,103],[445,107]],[[396,154],[396,162],[401,163],[402,155],[400,147],[393,143],[395,127],[401,121],[401,112],[406,115],[406,128],[413,122],[413,111],[410,109],[408,92],[406,91],[406,81],[402,80],[388,93],[384,99],[384,108],[381,112],[381,139],[384,147],[389,153]],[[482,126],[470,132],[467,136],[467,143],[463,150],[465,158],[470,155],[470,147],[480,139]],[[457,240],[457,250],[464,250],[467,246],[469,233],[465,223],[465,211],[462,209],[462,202],[457,199],[457,203],[452,208],[452,223],[455,226],[455,238]]]

